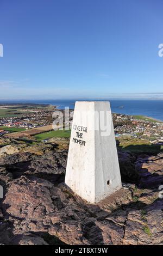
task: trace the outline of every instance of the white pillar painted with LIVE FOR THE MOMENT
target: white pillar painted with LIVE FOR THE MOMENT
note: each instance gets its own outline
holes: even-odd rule
[[[121,188],[120,167],[108,101],[77,101],[65,183],[89,203]]]

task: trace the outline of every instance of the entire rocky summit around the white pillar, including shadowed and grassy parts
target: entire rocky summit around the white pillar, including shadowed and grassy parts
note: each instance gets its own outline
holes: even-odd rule
[[[22,149],[13,154],[2,145],[0,185],[5,198],[0,202],[0,243],[162,245],[163,201],[158,187],[163,153],[136,156],[119,151],[123,187],[91,205],[62,183],[68,139],[61,139],[60,146],[59,141],[23,147],[15,142],[15,148]]]

